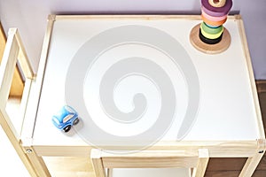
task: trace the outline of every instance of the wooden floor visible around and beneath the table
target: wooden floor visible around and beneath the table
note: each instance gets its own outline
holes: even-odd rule
[[[259,81],[257,82],[259,83]],[[259,99],[266,127],[266,81],[257,85]],[[90,158],[48,158],[44,157],[51,175],[55,177],[95,177]],[[240,170],[245,164],[246,158],[211,158],[207,166],[206,177],[234,177],[239,176]],[[14,170],[15,169],[15,170]],[[23,176],[29,174],[22,165],[20,158],[12,149],[11,143],[4,135],[0,127],[0,176]],[[266,155],[262,158],[260,165],[257,167],[254,177],[266,176]]]

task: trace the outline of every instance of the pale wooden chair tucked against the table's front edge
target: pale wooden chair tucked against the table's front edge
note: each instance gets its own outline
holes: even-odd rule
[[[208,150],[143,150],[115,154],[93,149],[90,158],[97,177],[204,176]]]

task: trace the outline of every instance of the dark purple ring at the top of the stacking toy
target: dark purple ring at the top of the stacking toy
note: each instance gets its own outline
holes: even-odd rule
[[[226,3],[223,7],[213,7],[211,4],[208,3],[208,0],[201,0],[202,9],[208,15],[213,17],[223,17],[227,15],[232,6],[232,0],[226,0]]]

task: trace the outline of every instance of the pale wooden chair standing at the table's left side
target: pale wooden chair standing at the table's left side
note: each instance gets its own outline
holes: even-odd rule
[[[20,100],[20,112],[15,121],[12,121],[8,110],[9,96],[12,88],[12,78],[16,71],[16,65],[20,65],[21,75],[24,79],[23,95]],[[26,166],[28,173],[31,176],[45,176],[44,173],[39,173],[35,168],[35,164],[31,163],[29,157],[34,156],[35,152],[28,153],[21,146],[20,132],[22,130],[27,98],[32,81],[35,80],[35,73],[27,58],[26,50],[21,42],[17,28],[11,28],[8,33],[7,42],[4,48],[4,55],[0,65],[0,126],[3,127],[4,133],[12,143],[12,146],[20,156],[21,161]],[[20,122],[19,128],[16,128],[15,123]],[[46,175],[47,176],[47,175]]]

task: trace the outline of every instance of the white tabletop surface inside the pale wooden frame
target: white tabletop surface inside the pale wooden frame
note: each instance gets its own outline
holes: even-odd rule
[[[242,48],[237,21],[229,19],[225,23],[224,26],[231,34],[231,46],[223,53],[215,55],[207,55],[192,47],[189,40],[190,31],[192,27],[200,22],[200,20],[196,19],[56,20],[52,30],[42,95],[35,122],[34,143],[40,145],[75,143],[83,139],[81,134],[84,133],[91,133],[96,139],[101,139],[101,141],[106,141],[106,143],[110,141],[105,139],[105,136],[98,135],[97,132],[93,131],[93,128],[91,128],[90,132],[90,121],[87,119],[86,114],[83,114],[83,110],[79,106],[76,106],[78,105],[77,103],[74,103],[74,109],[80,113],[82,119],[80,124],[74,128],[78,133],[75,131],[71,131],[68,134],[62,133],[51,123],[52,115],[58,112],[67,102],[65,87],[69,83],[66,84],[66,81],[73,81],[73,85],[75,86],[77,83],[75,83],[74,79],[78,82],[81,78],[84,78],[82,80],[82,88],[76,88],[76,91],[71,92],[73,93],[72,96],[77,97],[76,102],[80,101],[79,97],[83,98],[80,103],[81,107],[87,108],[87,112],[89,112],[94,124],[106,132],[106,134],[131,137],[140,135],[148,131],[149,127],[153,127],[153,123],[156,122],[160,108],[162,107],[160,102],[162,99],[161,93],[157,83],[142,74],[134,73],[124,76],[124,78],[115,83],[116,85],[113,89],[114,104],[121,112],[131,112],[134,110],[132,101],[137,93],[142,93],[145,96],[146,107],[141,119],[128,124],[116,121],[114,120],[115,118],[110,119],[110,117],[106,116],[108,110],[104,110],[104,105],[99,101],[100,81],[104,77],[106,70],[113,64],[117,64],[121,60],[128,58],[138,58],[140,60],[144,58],[145,60],[153,61],[153,64],[159,65],[167,73],[169,81],[172,82],[176,93],[176,99],[174,99],[176,112],[168,131],[160,138],[163,141],[180,140],[178,138],[176,139],[176,137],[180,128],[184,126],[185,112],[189,107],[189,96],[191,96],[191,93],[189,93],[188,87],[192,87],[195,84],[188,83],[187,75],[184,74],[184,70],[188,68],[182,68],[182,65],[179,64],[175,65],[172,56],[164,49],[153,46],[153,43],[145,43],[142,40],[138,40],[137,42],[125,40],[124,42],[110,46],[110,48],[98,53],[96,59],[94,58],[93,65],[91,64],[90,68],[87,68],[86,75],[82,73],[82,68],[84,65],[87,65],[85,63],[88,61],[82,59],[80,61],[80,71],[77,70],[74,73],[74,78],[66,78],[66,75],[69,74],[69,68],[73,67],[73,60],[77,56],[87,55],[84,46],[93,46],[93,43],[92,45],[88,44],[88,42],[93,42],[93,37],[99,36],[100,33],[105,33],[115,27],[129,26],[140,28],[151,27],[153,29],[155,28],[155,31],[159,30],[169,35],[180,44],[176,48],[178,50],[176,52],[179,52],[181,56],[184,53],[188,56],[188,58],[181,58],[180,60],[190,59],[192,61],[192,65],[195,68],[194,72],[197,73],[197,77],[199,78],[200,99],[198,101],[200,105],[196,110],[195,118],[190,118],[194,119],[194,121],[189,120],[191,126],[184,127],[187,130],[182,137],[183,140],[238,141],[260,138],[254,107],[254,97],[249,82],[248,67],[246,65],[245,52]],[[159,42],[163,41],[158,36],[154,36],[154,39]],[[117,39],[106,39],[106,43],[110,42],[110,40],[115,41]],[[104,43],[105,41],[103,41],[103,45]],[[169,45],[171,45],[170,42]],[[91,48],[88,50],[93,52]],[[96,50],[98,52],[98,49]],[[84,65],[82,62],[84,62]],[[190,89],[193,90],[192,88]],[[197,90],[195,91],[197,92]],[[69,93],[68,90],[67,94]],[[171,92],[169,91],[169,93]]]

